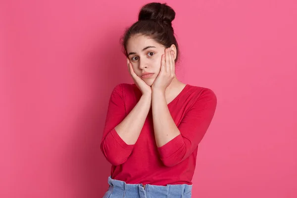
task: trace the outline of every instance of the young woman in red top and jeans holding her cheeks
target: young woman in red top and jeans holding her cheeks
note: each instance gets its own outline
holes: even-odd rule
[[[174,18],[165,3],[148,3],[124,34],[135,84],[117,85],[109,100],[100,148],[112,167],[103,198],[191,198],[198,144],[216,96],[176,78]]]

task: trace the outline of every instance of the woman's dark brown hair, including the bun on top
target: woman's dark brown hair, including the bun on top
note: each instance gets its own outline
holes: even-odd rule
[[[179,48],[174,36],[171,22],[175,18],[175,11],[166,3],[151,2],[144,5],[138,15],[138,21],[125,30],[121,38],[122,51],[127,54],[127,42],[135,35],[144,35],[155,40],[165,48],[172,44],[176,47],[176,59],[179,57]]]

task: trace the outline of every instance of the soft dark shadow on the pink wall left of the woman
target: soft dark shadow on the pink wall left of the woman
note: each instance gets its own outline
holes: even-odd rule
[[[83,89],[88,90],[86,93],[90,97],[85,101],[85,108],[78,113],[73,137],[67,147],[69,161],[65,168],[68,169],[73,198],[101,198],[108,189],[111,164],[103,156],[100,142],[110,94],[117,84],[127,82],[129,77],[119,44],[122,32],[119,33],[118,28],[104,31],[109,34],[96,38],[100,40],[97,43],[91,41],[94,48],[80,65],[81,75],[87,82]]]

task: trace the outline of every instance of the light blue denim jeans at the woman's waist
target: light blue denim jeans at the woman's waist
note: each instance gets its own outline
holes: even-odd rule
[[[192,185],[156,186],[147,184],[126,184],[108,177],[109,188],[103,198],[191,198]]]

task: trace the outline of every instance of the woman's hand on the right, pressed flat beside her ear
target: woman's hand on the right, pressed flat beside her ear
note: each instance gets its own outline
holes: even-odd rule
[[[175,62],[173,51],[169,48],[165,49],[165,54],[161,57],[161,67],[160,72],[153,84],[151,85],[151,90],[158,90],[165,93],[166,88],[170,85],[175,77]]]

